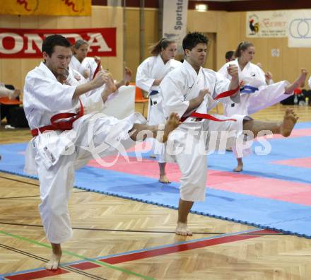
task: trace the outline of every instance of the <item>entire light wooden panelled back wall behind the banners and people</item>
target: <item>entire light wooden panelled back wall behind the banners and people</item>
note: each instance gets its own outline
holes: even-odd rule
[[[117,57],[102,58],[102,64],[115,78],[122,77],[123,71],[123,11],[119,7],[93,6],[91,17],[52,17],[52,16],[1,16],[2,28],[98,28],[117,27]],[[210,55],[213,65],[219,69],[225,63],[225,52],[235,49],[245,37],[245,12],[188,11],[188,31],[214,33],[216,42]],[[125,58],[127,66],[134,70],[139,65],[139,8],[127,8],[125,35]],[[146,8],[145,11],[145,58],[149,56],[148,47],[157,42],[158,10]],[[254,63],[261,62],[264,70],[269,70],[274,81],[298,76],[300,67],[311,65],[311,52],[307,48],[288,48],[287,38],[252,38],[255,45]],[[271,57],[271,49],[280,49],[280,57]],[[1,59],[0,81],[23,87],[25,74],[39,64],[40,59]]]

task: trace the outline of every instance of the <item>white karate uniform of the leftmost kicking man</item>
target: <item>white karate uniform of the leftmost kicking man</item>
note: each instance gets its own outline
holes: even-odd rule
[[[41,63],[25,78],[23,106],[30,129],[50,124],[50,118],[59,112],[75,112],[73,95],[76,86],[63,85],[52,71]],[[81,95],[83,107],[104,107],[102,90]],[[77,102],[78,104],[78,102]],[[73,129],[40,133],[28,144],[25,155],[25,172],[38,175],[40,180],[39,206],[42,223],[49,242],[63,243],[71,237],[68,200],[74,184],[74,170],[85,165],[95,154],[101,156],[125,154],[134,146],[129,130],[134,122],[146,123],[139,113],[119,120],[96,114],[83,115],[74,122]],[[105,146],[100,151],[90,151],[92,146]]]

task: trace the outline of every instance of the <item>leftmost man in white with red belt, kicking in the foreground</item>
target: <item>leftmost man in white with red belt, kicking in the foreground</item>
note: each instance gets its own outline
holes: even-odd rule
[[[23,105],[34,136],[26,151],[25,172],[38,175],[40,180],[39,210],[52,245],[52,256],[46,267],[57,269],[61,243],[72,235],[68,200],[74,184],[74,170],[93,157],[126,155],[126,149],[134,146],[136,139],[146,138],[146,131],[147,136],[158,136],[159,140],[163,136],[162,141],[166,141],[179,124],[179,117],[170,115],[168,122],[158,128],[146,125],[146,119],[139,113],[121,120],[98,114],[115,91],[110,74],[100,71],[93,81],[82,85],[60,83],[72,56],[70,42],[61,35],[51,35],[44,40],[42,55],[45,62],[25,78]],[[104,84],[103,91],[96,91]],[[93,93],[86,98],[85,93],[90,91]],[[68,122],[61,121],[61,117],[72,115],[76,120],[70,130],[66,127]]]

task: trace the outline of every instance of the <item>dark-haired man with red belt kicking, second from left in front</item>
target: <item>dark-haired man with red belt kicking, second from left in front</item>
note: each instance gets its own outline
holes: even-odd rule
[[[184,63],[167,74],[160,83],[165,117],[168,117],[170,112],[177,112],[187,117],[170,134],[167,143],[168,154],[177,162],[182,173],[175,231],[178,235],[192,235],[187,226],[187,216],[194,202],[205,199],[207,167],[204,150],[207,146],[211,150],[211,144],[215,143],[212,138],[217,139],[218,143],[218,140],[221,141],[223,132],[230,132],[227,134],[230,136],[228,141],[235,141],[237,136],[243,134],[243,130],[251,131],[254,136],[262,130],[289,136],[298,119],[291,109],[286,110],[283,122],[259,122],[245,115],[233,115],[231,118],[236,122],[214,122],[197,117],[195,114],[192,117],[190,114],[193,112],[206,114],[214,103],[213,98],[216,95],[238,88],[239,85],[239,72],[235,65],[228,67],[231,81],[221,74],[202,68],[206,59],[207,44],[208,39],[201,33],[188,33],[182,42]],[[223,102],[232,103],[232,101],[238,102],[239,98],[239,93],[235,93],[232,97],[222,99]],[[216,117],[224,118],[219,115]]]

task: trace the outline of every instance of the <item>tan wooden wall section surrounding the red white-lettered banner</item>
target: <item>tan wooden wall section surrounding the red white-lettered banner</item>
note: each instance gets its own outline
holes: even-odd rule
[[[117,57],[102,57],[102,65],[116,78],[123,72],[123,10],[93,6],[92,16],[9,16],[1,15],[0,28],[105,28],[117,27]],[[23,88],[25,76],[42,59],[0,59],[0,81]]]

